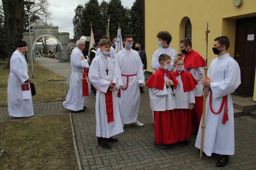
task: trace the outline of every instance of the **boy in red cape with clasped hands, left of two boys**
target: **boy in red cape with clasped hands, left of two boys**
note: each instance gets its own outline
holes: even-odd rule
[[[167,148],[171,143],[178,142],[175,118],[175,93],[178,81],[168,71],[171,57],[161,54],[158,58],[160,68],[147,80],[150,106],[154,112],[155,145]]]

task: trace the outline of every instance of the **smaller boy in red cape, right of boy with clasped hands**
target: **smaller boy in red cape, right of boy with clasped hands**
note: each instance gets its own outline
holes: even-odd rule
[[[194,89],[198,82],[189,72],[184,71],[184,60],[182,57],[175,57],[173,66],[176,68],[176,71],[172,75],[179,82],[174,96],[178,140],[184,145],[188,145],[187,139],[191,137],[190,110],[194,108]]]

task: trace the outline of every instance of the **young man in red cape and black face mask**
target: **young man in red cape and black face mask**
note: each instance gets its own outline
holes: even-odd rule
[[[194,137],[197,137],[203,113],[203,85],[201,84],[201,80],[204,75],[203,67],[205,66],[205,61],[198,52],[192,49],[192,42],[189,38],[181,40],[180,45],[181,52],[183,53],[181,57],[184,60],[184,70],[192,74],[198,82],[194,89],[196,103],[194,108],[191,110],[192,130],[195,130]]]

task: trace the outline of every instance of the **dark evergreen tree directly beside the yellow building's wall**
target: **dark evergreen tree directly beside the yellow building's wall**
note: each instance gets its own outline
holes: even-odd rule
[[[133,36],[134,43],[140,43],[143,49],[143,9],[142,0],[136,0],[130,11],[130,31]]]

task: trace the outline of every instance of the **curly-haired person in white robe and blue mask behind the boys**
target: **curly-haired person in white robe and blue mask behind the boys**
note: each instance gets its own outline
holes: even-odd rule
[[[160,31],[157,33],[156,37],[158,38],[158,46],[161,47],[157,49],[151,61],[151,68],[154,70],[153,74],[159,69],[160,64],[158,62],[158,58],[161,54],[167,54],[171,57],[171,66],[169,68],[170,72],[174,70],[174,58],[177,56],[177,52],[175,49],[170,47],[170,43],[172,41],[172,36],[168,31]]]

